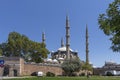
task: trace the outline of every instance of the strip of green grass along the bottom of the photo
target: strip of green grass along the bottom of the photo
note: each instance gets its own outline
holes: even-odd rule
[[[6,80],[6,79],[3,79]],[[88,80],[87,77],[30,77],[30,78],[16,78],[7,80]],[[93,76],[89,80],[120,80],[117,76]]]

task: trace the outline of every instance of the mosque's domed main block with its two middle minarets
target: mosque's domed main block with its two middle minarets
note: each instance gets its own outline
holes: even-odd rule
[[[65,59],[78,58],[78,52],[70,48],[70,26],[69,19],[66,16],[66,45],[64,45],[63,38],[61,39],[61,47],[56,52],[51,52],[52,59],[56,59],[62,63]]]

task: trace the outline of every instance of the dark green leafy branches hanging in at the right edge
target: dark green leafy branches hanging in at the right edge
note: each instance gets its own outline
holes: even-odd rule
[[[114,0],[109,4],[106,13],[99,15],[98,23],[100,29],[110,36],[111,49],[120,52],[120,0]]]

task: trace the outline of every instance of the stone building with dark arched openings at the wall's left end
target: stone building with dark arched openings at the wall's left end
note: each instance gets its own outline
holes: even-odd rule
[[[18,57],[1,57],[4,66],[1,68],[1,76],[20,76],[23,70],[24,60]]]

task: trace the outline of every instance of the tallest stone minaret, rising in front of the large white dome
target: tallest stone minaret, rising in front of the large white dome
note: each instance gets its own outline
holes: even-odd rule
[[[66,16],[66,53],[66,58],[70,59],[70,26],[68,16]]]

